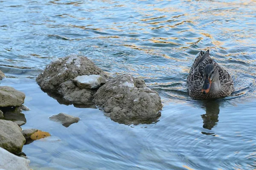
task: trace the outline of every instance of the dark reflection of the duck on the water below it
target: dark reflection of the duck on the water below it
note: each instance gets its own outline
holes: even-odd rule
[[[201,115],[203,119],[203,127],[211,130],[218,122],[218,114],[220,113],[220,103],[218,101],[204,102],[206,113]]]

